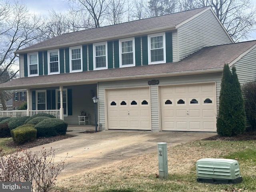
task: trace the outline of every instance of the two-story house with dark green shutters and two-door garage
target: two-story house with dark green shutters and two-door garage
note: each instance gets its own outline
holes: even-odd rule
[[[62,34],[18,50],[28,110],[80,111],[101,130],[216,132],[222,70],[256,80],[256,41],[234,43],[210,7]],[[62,96],[61,96],[62,95]],[[61,110],[62,114],[62,110]]]

